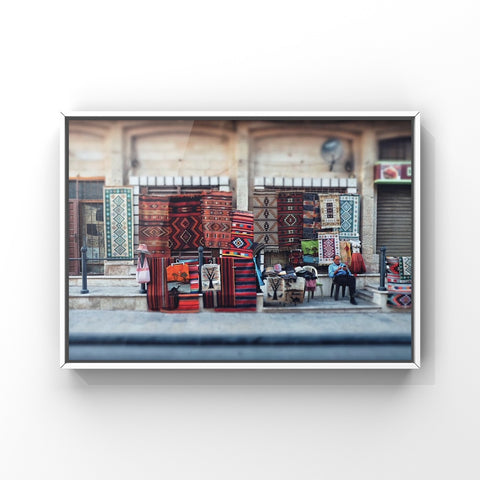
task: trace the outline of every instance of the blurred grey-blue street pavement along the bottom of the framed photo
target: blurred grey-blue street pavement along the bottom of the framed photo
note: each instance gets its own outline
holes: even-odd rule
[[[70,310],[69,354],[71,361],[410,361],[410,312],[352,313]]]

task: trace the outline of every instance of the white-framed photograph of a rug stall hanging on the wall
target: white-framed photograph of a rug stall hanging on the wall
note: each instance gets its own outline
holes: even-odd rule
[[[61,116],[63,368],[420,367],[418,112]]]

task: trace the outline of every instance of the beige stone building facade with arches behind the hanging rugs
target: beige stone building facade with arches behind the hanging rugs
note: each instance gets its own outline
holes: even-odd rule
[[[382,182],[377,168],[388,162],[411,164],[409,119],[71,118],[66,138],[70,258],[79,256],[87,237],[89,257],[105,254],[99,238],[103,186],[133,187],[136,245],[141,193],[230,190],[234,208],[251,210],[254,191],[299,189],[360,195],[362,255],[367,271],[375,273],[379,232],[382,241],[389,241],[388,224],[377,225],[378,202],[389,194],[388,185],[380,185],[401,185],[407,203],[411,199],[410,179]],[[329,157],[322,147],[332,140],[337,150]],[[388,208],[395,208],[395,198],[391,204]],[[389,217],[388,208],[382,218]],[[391,215],[401,220],[402,232],[408,226],[411,232],[411,208]],[[99,261],[91,273],[122,273],[128,264]]]

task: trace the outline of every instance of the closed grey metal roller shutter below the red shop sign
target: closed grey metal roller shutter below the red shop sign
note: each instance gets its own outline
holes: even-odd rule
[[[410,185],[377,186],[377,253],[413,255],[412,194]]]

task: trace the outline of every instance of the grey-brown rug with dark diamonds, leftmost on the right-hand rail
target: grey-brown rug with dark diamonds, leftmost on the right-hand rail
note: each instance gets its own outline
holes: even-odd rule
[[[278,201],[275,192],[253,194],[254,241],[278,249]]]

